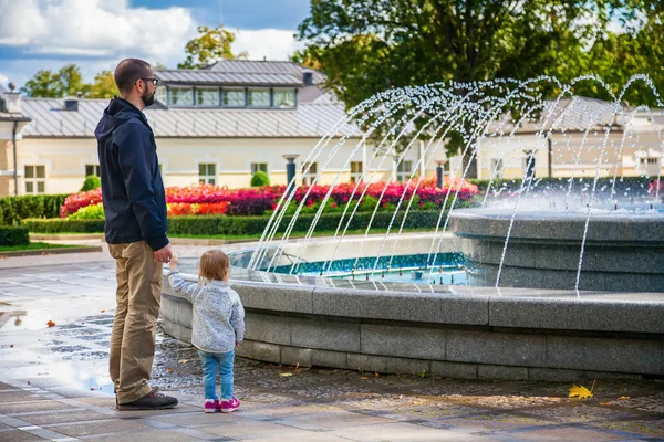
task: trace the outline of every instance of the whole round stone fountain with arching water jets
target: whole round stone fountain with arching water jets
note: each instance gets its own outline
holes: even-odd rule
[[[595,82],[611,101],[574,97],[580,82]],[[289,186],[260,241],[231,254],[248,312],[238,354],[461,378],[663,376],[661,187],[627,189],[621,171],[625,154],[640,149],[635,115],[650,112],[621,104],[634,82],[658,99],[645,75],[619,95],[594,75],[570,84],[541,76],[391,90],[351,109],[302,161],[300,175],[323,164],[313,186]],[[558,95],[544,99],[542,90]],[[465,161],[448,187],[432,190],[418,171],[440,158],[453,134]],[[381,185],[421,140],[403,186]],[[664,151],[661,138],[658,146]],[[488,183],[471,196],[465,178],[486,152],[494,157],[480,169]],[[549,173],[538,178],[542,152]],[[360,155],[363,180],[342,183]],[[520,160],[523,179],[500,181]],[[651,178],[661,182],[661,166]],[[304,236],[293,238],[304,213]],[[320,225],[334,234],[314,238]],[[164,327],[187,340],[190,306],[165,287]]]

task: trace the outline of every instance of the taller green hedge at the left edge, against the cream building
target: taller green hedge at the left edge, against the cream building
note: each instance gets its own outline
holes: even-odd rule
[[[58,218],[69,194],[27,194],[0,198],[0,225],[19,224],[27,218]]]

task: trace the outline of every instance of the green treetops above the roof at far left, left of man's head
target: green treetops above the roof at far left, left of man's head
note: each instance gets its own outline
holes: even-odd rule
[[[32,97],[63,97],[83,95],[90,92],[90,85],[83,83],[81,70],[75,64],[65,64],[56,73],[39,71],[29,80],[21,92]]]

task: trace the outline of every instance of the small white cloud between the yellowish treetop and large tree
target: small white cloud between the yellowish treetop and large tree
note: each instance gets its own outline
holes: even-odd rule
[[[250,60],[288,60],[295,50],[304,45],[293,36],[294,31],[279,29],[231,30],[236,32],[232,52],[247,52]]]

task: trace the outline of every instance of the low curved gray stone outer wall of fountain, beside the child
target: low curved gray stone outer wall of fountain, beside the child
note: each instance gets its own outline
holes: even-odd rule
[[[237,354],[247,358],[466,379],[664,376],[662,294],[331,285],[240,267],[231,276],[247,313]],[[166,278],[162,317],[167,334],[190,341],[191,305]]]

